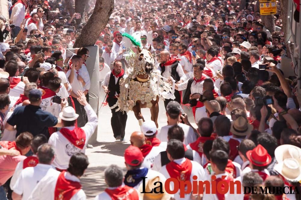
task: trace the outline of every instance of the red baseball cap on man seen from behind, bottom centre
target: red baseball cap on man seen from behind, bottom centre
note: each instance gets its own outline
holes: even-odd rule
[[[143,161],[143,155],[138,147],[130,145],[126,148],[126,151],[124,151],[124,159],[126,160],[126,164],[138,166]]]

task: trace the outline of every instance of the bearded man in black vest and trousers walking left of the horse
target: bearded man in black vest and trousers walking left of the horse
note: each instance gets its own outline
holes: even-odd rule
[[[124,75],[124,70],[122,69],[122,64],[120,61],[113,62],[114,69],[112,72],[108,72],[104,77],[104,81],[101,86],[104,92],[108,94],[107,102],[109,106],[112,107],[117,102],[117,97],[120,94],[119,80]],[[126,112],[118,111],[115,112],[117,108],[111,109],[112,118],[111,126],[113,129],[114,137],[116,140],[124,141],[126,120],[128,118]]]

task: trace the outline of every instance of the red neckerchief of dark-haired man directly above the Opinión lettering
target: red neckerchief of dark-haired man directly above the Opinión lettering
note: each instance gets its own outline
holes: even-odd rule
[[[190,181],[192,163],[187,158],[184,163],[180,165],[172,161],[166,165],[166,170],[170,178],[175,178],[178,181]]]

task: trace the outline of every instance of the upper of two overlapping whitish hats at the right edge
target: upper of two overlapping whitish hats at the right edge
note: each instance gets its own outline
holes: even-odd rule
[[[301,164],[301,148],[294,145],[280,145],[275,149],[275,158],[278,163],[286,158],[294,158]]]

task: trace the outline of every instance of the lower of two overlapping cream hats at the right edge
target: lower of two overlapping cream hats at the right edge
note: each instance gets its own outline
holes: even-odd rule
[[[281,163],[275,165],[274,170],[288,181],[301,180],[301,168],[298,160],[294,158],[284,159]]]

